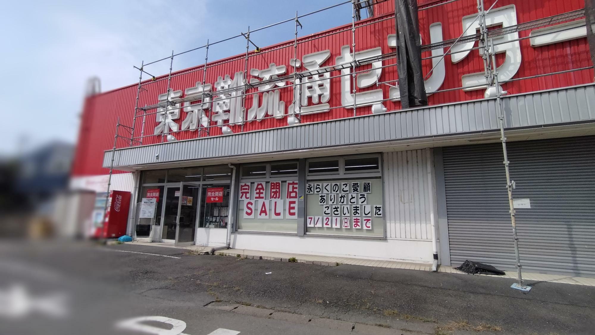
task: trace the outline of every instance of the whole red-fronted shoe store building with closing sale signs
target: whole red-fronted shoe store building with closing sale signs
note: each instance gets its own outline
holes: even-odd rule
[[[146,241],[424,263],[436,247],[440,264],[510,269],[503,113],[524,270],[595,276],[584,2],[502,0],[476,20],[476,0],[420,0],[430,105],[406,110],[393,2],[373,2],[348,26],[87,98],[71,184],[105,192],[113,168]],[[484,96],[482,27],[501,99]]]

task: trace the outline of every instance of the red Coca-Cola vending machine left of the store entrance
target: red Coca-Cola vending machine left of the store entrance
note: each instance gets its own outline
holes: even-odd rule
[[[109,191],[108,208],[104,222],[95,229],[95,238],[119,238],[126,235],[130,192]]]

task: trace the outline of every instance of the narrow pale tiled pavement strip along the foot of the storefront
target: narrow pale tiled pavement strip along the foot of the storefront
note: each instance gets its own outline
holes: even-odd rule
[[[133,245],[149,245],[149,246],[162,246],[167,248],[181,248],[189,249],[192,252],[207,252],[212,249],[211,246],[177,246],[174,247],[172,244],[165,243],[151,243],[151,242],[126,242],[126,244]],[[398,262],[398,261],[383,261],[383,260],[366,260],[362,258],[350,258],[350,257],[331,257],[331,256],[320,256],[320,255],[304,255],[304,254],[289,254],[286,252],[273,252],[273,251],[258,251],[258,250],[247,250],[247,249],[224,249],[215,252],[215,254],[237,256],[244,258],[250,258],[255,260],[271,260],[271,261],[289,261],[290,258],[295,258],[297,263],[315,264],[322,266],[336,266],[339,264],[350,264],[359,266],[372,266],[372,267],[384,267],[384,268],[401,268],[405,270],[421,270],[431,271],[431,264],[425,263],[411,263],[411,262]],[[455,268],[450,266],[439,266],[439,272],[446,273],[460,273],[466,274],[462,271],[457,271]],[[516,279],[516,271],[505,271],[505,275],[496,276],[493,274],[477,274],[475,276],[493,276]],[[586,277],[570,277],[558,274],[542,274],[542,273],[530,273],[523,272],[524,280],[538,280],[540,282],[552,282],[552,283],[563,283],[573,285],[585,285],[595,286],[595,278]]]

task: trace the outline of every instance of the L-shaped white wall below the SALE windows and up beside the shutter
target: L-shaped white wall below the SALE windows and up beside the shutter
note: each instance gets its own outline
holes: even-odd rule
[[[384,153],[386,239],[234,233],[232,248],[391,261],[433,261],[427,151]],[[434,182],[433,178],[431,181]]]

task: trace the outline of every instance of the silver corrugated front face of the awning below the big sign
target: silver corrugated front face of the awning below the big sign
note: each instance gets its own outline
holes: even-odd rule
[[[593,85],[503,99],[506,127],[538,127],[595,119]],[[196,160],[255,153],[377,143],[497,129],[496,100],[477,100],[325,122],[123,148],[114,166]],[[159,160],[155,154],[159,153]],[[109,166],[111,151],[105,151]]]

